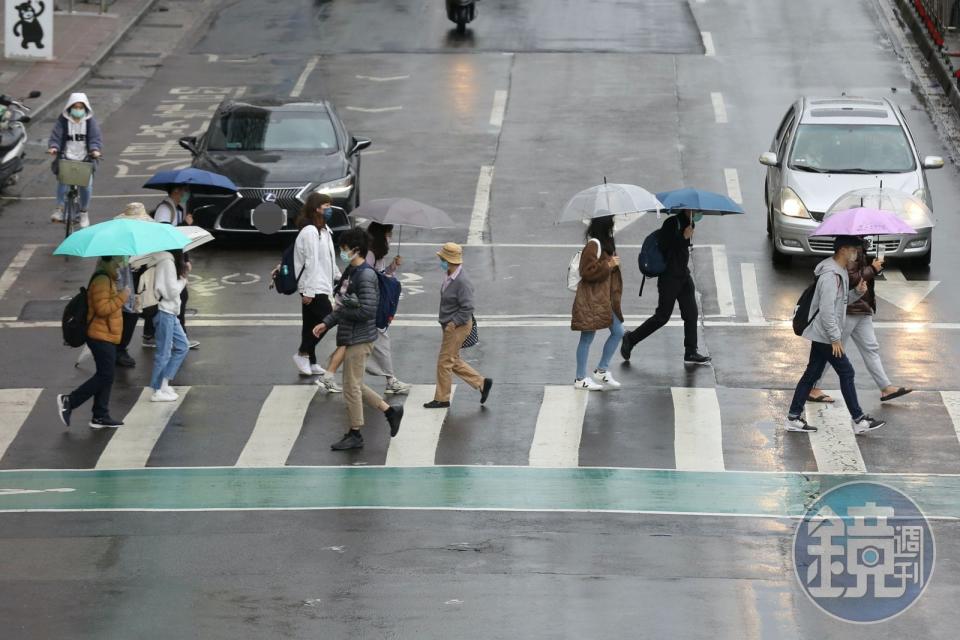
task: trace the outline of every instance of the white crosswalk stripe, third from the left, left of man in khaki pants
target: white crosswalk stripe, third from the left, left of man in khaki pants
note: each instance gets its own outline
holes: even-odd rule
[[[315,384],[275,386],[260,407],[253,433],[235,466],[284,466],[319,388]]]

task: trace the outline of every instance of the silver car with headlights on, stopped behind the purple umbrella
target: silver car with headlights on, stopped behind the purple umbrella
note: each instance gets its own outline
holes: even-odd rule
[[[767,167],[764,196],[773,260],[833,253],[832,238],[811,238],[823,215],[854,189],[898,189],[933,210],[925,169],[943,158],[920,159],[900,108],[885,98],[803,97],[787,110],[760,156]],[[881,236],[884,253],[930,264],[932,229],[912,236]]]

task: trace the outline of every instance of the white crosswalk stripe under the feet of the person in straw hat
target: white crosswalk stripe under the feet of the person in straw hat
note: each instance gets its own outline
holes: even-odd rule
[[[437,443],[440,429],[447,418],[446,409],[424,409],[423,403],[433,400],[436,387],[432,384],[415,384],[403,403],[403,423],[400,432],[390,438],[387,448],[388,467],[432,467],[437,458]],[[450,399],[456,392],[450,391]]]

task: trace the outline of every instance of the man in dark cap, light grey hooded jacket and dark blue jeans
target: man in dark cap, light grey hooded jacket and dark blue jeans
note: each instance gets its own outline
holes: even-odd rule
[[[853,384],[853,365],[843,352],[847,305],[859,300],[867,291],[867,283],[863,280],[855,289],[850,289],[850,275],[847,272],[848,267],[857,261],[862,244],[863,241],[856,236],[837,236],[833,241],[833,256],[823,260],[814,270],[816,290],[810,302],[809,324],[803,331],[803,337],[810,341],[810,359],[790,403],[787,431],[810,433],[817,430],[804,420],[803,407],[827,363],[840,378],[840,391],[850,412],[854,434],[861,435],[886,424],[860,409],[857,388]]]

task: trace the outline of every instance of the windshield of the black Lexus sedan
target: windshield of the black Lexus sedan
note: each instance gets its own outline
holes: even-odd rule
[[[233,109],[210,128],[213,151],[326,151],[337,149],[337,134],[325,112]]]

